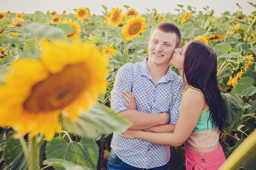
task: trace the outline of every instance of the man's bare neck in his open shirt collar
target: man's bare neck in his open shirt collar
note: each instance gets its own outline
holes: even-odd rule
[[[162,77],[164,77],[164,75],[166,75],[169,64],[156,66],[153,63],[148,62],[148,61],[147,61],[147,64],[148,64],[148,69],[149,69],[150,75],[151,75],[153,81],[155,82],[155,84],[157,84],[159,79],[161,79]]]

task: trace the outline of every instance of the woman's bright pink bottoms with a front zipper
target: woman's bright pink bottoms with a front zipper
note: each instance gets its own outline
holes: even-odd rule
[[[218,170],[222,163],[226,161],[221,145],[207,153],[194,152],[186,147],[186,170]]]

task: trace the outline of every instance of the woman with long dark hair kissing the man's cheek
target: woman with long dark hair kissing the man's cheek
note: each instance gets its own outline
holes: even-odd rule
[[[186,84],[174,130],[173,126],[166,126],[170,127],[168,132],[159,132],[153,127],[146,131],[126,130],[119,135],[169,146],[186,141],[186,170],[217,170],[225,161],[219,135],[226,115],[216,77],[216,53],[204,42],[192,41],[175,49],[170,62]],[[130,91],[122,95],[129,109],[136,108]]]

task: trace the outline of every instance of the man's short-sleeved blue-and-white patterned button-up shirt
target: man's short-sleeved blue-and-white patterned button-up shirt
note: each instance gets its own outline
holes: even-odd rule
[[[126,64],[117,72],[111,91],[111,108],[117,113],[128,110],[121,91],[130,90],[135,96],[137,111],[170,113],[170,124],[176,124],[184,84],[182,78],[171,68],[162,79],[154,83],[147,65],[147,58],[135,64]],[[170,147],[152,144],[140,139],[126,139],[114,132],[111,144],[122,161],[137,168],[155,168],[165,165],[170,159]]]

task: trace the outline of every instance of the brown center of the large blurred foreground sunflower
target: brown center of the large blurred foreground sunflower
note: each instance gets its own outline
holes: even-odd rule
[[[33,112],[47,112],[65,108],[79,97],[87,83],[85,67],[82,64],[68,65],[63,71],[52,74],[31,89],[24,102],[24,109]]]

